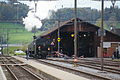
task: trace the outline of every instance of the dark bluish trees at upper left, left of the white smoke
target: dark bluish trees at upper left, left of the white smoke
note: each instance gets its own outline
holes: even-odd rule
[[[8,2],[0,2],[0,21],[16,21],[16,20],[21,20],[23,17],[27,16],[27,13],[29,11],[29,7],[25,4],[17,2],[17,0],[9,0]],[[1,28],[10,28],[10,24],[6,25],[7,23],[1,23],[0,27]],[[18,25],[18,24],[17,24]],[[16,27],[20,27],[17,26]],[[14,27],[12,25],[12,27]],[[15,27],[15,28],[16,28]],[[14,30],[13,30],[14,31]],[[3,37],[3,34],[5,31],[1,29],[1,36],[0,36],[0,41],[4,44],[7,43],[7,38]]]

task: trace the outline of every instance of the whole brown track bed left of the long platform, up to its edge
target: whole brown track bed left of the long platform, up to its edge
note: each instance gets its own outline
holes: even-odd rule
[[[0,66],[7,80],[52,80],[47,74],[12,57],[0,57]],[[51,79],[52,78],[52,79]]]

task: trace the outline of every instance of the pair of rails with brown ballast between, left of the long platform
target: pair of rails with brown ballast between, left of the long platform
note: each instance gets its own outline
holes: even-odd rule
[[[24,68],[25,64],[17,64],[11,58],[1,58],[4,69],[6,69],[13,80],[43,80],[28,69]],[[19,62],[18,62],[19,63]]]

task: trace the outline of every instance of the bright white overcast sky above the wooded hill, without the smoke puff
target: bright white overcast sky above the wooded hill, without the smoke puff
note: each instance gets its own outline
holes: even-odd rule
[[[28,4],[30,8],[34,8],[34,2],[25,2]],[[53,9],[56,10],[58,8],[70,8],[74,7],[74,0],[59,0],[59,1],[39,1],[37,6],[37,13],[41,19],[47,17],[48,11]],[[105,7],[110,7],[112,4],[111,2],[105,2]],[[120,2],[116,2],[116,6],[120,6]],[[78,7],[91,7],[92,9],[101,9],[101,2],[100,1],[92,1],[92,0],[77,0]]]

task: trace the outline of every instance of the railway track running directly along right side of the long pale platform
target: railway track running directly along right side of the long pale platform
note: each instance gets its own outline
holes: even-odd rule
[[[49,59],[49,61],[51,61],[51,60]],[[75,69],[75,68],[66,67],[63,64],[61,64],[61,65],[54,64],[54,62],[49,62],[49,61],[39,60],[39,62],[42,62],[43,64],[51,65],[51,66],[54,66],[56,68],[66,70],[68,72],[72,72],[72,73],[80,75],[80,76],[83,75],[83,77],[88,77],[89,79],[95,79],[95,80],[119,80],[119,79],[113,79],[112,77],[102,76],[102,75],[99,75],[99,74],[94,74],[94,73],[91,73],[91,72],[86,72],[86,71],[83,71],[83,70],[81,71],[81,70],[78,70],[78,69]],[[59,62],[60,60],[52,60],[52,61]],[[65,63],[65,64],[66,63],[71,64],[70,61],[67,61],[67,62],[66,61],[60,61],[60,62]]]

